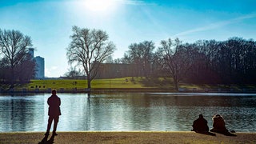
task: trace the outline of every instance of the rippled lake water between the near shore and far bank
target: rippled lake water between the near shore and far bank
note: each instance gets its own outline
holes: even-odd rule
[[[45,131],[50,94],[1,95],[0,132]],[[221,114],[229,130],[256,132],[256,94],[58,94],[58,131],[188,131],[198,114],[212,128]],[[52,130],[52,129],[51,129]]]

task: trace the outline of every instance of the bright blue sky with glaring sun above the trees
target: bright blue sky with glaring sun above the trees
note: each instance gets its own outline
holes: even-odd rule
[[[122,58],[132,43],[256,40],[255,0],[0,0],[0,29],[30,36],[48,78],[63,76],[72,26],[104,30]]]

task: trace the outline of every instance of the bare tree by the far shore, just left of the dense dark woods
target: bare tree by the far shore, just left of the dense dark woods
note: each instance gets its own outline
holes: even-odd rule
[[[182,46],[178,38],[174,42],[169,38],[161,42],[157,54],[159,64],[174,79],[174,88],[178,90],[178,83],[185,77],[191,66],[190,50],[186,46]]]

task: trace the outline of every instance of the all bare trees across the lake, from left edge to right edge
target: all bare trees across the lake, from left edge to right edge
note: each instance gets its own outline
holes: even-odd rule
[[[82,71],[70,70],[73,76],[82,72],[90,82],[96,77],[103,62],[111,61],[115,46],[102,30],[74,26],[70,45],[66,48],[68,62],[80,66]],[[0,30],[1,82],[26,82],[35,74],[35,62],[28,54],[32,46],[30,37],[17,30]],[[133,66],[133,77],[171,77],[174,87],[178,83],[197,84],[255,84],[256,42],[253,39],[230,38],[182,43],[178,38],[162,40],[156,48],[154,42],[133,43],[123,58],[112,62]]]

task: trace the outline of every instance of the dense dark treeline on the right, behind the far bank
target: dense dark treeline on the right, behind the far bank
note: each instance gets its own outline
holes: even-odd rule
[[[198,41],[186,44],[194,51],[187,82],[255,84],[256,42],[230,38],[224,42]]]

